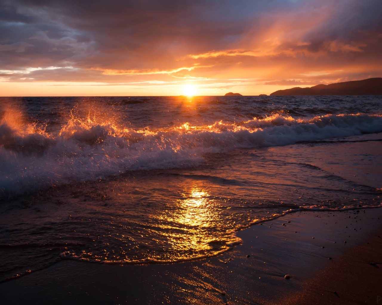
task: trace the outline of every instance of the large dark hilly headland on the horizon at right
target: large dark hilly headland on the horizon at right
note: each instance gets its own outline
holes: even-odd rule
[[[331,83],[308,88],[277,90],[270,95],[382,95],[382,77]]]

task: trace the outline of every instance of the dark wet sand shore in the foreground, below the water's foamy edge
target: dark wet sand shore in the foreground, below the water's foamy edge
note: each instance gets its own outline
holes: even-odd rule
[[[239,231],[243,243],[217,257],[123,266],[62,260],[0,284],[0,293],[5,304],[313,304],[316,299],[324,304],[327,300],[338,303],[337,299],[349,303],[355,297],[376,300],[374,293],[380,286],[369,275],[377,276],[382,266],[367,263],[381,260],[377,261],[376,250],[366,248],[365,241],[370,239],[367,242],[374,247],[374,235],[381,230],[382,208],[297,212]],[[355,277],[349,278],[353,270]],[[291,278],[285,279],[286,274]],[[346,290],[341,289],[347,281],[359,289],[350,289],[348,295],[354,297],[345,299]],[[327,290],[338,295],[322,292],[319,301],[317,287],[329,287],[322,283],[337,283]],[[376,286],[364,293],[363,287],[373,283]]]

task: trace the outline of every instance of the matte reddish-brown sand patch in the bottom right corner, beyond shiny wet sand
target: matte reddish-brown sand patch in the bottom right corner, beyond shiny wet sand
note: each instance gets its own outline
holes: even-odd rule
[[[382,231],[348,250],[283,304],[382,303]]]

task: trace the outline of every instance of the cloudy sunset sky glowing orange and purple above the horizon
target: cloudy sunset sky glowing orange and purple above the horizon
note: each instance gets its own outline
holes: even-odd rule
[[[0,0],[0,96],[270,94],[381,50],[381,0]]]

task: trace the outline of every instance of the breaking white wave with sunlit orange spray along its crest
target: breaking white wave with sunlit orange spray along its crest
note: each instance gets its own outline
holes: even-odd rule
[[[3,195],[22,194],[126,171],[200,165],[205,153],[281,146],[301,141],[382,132],[382,115],[340,114],[265,119],[151,130],[123,127],[112,119],[71,116],[59,133],[26,124],[7,112],[0,123],[0,185]]]

